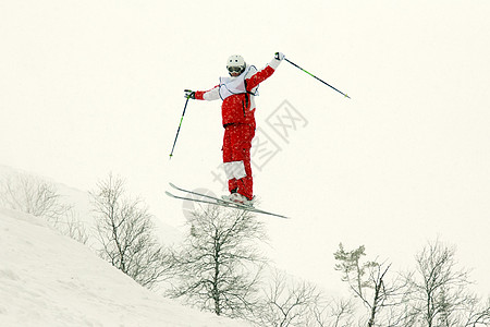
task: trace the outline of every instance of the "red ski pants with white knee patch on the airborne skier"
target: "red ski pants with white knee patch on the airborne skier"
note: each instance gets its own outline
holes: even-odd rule
[[[252,179],[250,148],[255,128],[248,124],[232,124],[224,129],[223,164],[226,172],[228,189],[248,199],[254,197]]]

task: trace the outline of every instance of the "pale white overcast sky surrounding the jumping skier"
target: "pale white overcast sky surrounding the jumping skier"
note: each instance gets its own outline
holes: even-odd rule
[[[260,86],[281,150],[255,191],[293,217],[261,218],[277,263],[336,288],[339,242],[402,269],[439,237],[488,294],[489,15],[483,0],[2,1],[0,165],[81,190],[112,171],[182,226],[169,181],[222,192],[219,101],[189,101],[169,160],[183,89],[215,86],[230,55],[262,68],[282,51],[352,100],[286,62]],[[284,100],[304,119],[286,140],[267,123]]]

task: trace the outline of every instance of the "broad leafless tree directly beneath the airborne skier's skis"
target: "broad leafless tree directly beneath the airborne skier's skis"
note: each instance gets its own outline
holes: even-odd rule
[[[208,206],[187,221],[189,233],[174,254],[179,277],[169,292],[217,315],[244,317],[257,301],[264,226],[244,210]]]

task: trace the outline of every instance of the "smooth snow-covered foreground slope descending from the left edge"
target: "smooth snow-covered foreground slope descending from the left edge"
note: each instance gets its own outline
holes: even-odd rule
[[[0,326],[249,326],[142,288],[44,220],[0,208]]]

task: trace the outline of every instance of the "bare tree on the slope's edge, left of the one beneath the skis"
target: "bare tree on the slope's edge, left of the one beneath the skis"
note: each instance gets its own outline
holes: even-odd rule
[[[154,235],[152,217],[139,199],[125,197],[124,181],[109,174],[90,195],[100,256],[147,288],[168,278],[170,256]]]

